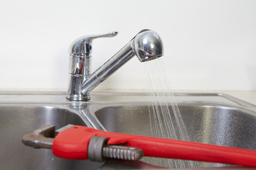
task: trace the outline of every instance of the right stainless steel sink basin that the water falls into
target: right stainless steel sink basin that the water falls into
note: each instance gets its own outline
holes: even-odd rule
[[[190,141],[256,150],[256,115],[252,111],[197,103],[179,104],[178,108]],[[169,111],[172,111],[171,106],[169,106]],[[152,118],[152,115],[150,116],[152,112],[152,106],[148,105],[111,106],[101,108],[95,112],[95,115],[107,131],[157,137],[155,130],[159,127],[155,126],[159,126],[159,121]],[[174,118],[174,113],[170,114],[171,118]],[[163,117],[161,121],[164,123]],[[173,122],[175,123],[175,120]],[[166,130],[164,125],[163,128]],[[177,132],[178,126],[174,125],[174,128]],[[181,138],[178,137],[178,140]],[[144,162],[158,166],[163,164],[161,159],[155,158],[144,159]],[[186,165],[188,163],[183,162]],[[197,166],[226,165],[198,162]]]

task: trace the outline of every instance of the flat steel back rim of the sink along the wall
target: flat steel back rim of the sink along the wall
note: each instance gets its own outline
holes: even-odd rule
[[[163,91],[168,97],[168,92]],[[92,99],[90,101],[69,101],[65,98],[65,91],[0,91],[1,104],[56,104],[67,105],[73,103],[80,104],[105,104],[105,103],[134,103],[148,102],[152,99],[149,96],[149,91],[134,92],[134,91],[92,91]],[[125,98],[124,98],[125,96]],[[195,93],[195,92],[174,92],[175,98],[225,98],[232,101],[235,106],[243,106],[252,108],[256,111],[256,106],[247,101],[242,101],[228,94],[223,93]],[[164,97],[161,97],[164,98]],[[210,101],[209,103],[215,103]]]

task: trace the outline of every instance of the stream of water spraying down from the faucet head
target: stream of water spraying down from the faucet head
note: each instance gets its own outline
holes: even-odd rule
[[[178,109],[170,81],[166,75],[161,58],[145,62],[148,89],[151,89],[149,103],[149,118],[151,135],[174,140],[189,141],[188,132]],[[164,98],[164,100],[163,100]],[[182,151],[181,151],[182,152]],[[198,167],[198,162],[181,159],[154,159],[154,164],[166,165],[166,168]]]

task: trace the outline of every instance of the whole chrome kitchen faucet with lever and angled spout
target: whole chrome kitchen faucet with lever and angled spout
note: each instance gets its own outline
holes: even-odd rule
[[[69,100],[89,101],[90,91],[110,77],[134,55],[137,55],[140,62],[146,62],[164,54],[163,43],[159,35],[153,30],[141,30],[117,54],[91,74],[92,40],[110,38],[115,35],[117,32],[88,35],[78,38],[70,45],[70,84],[66,94]]]

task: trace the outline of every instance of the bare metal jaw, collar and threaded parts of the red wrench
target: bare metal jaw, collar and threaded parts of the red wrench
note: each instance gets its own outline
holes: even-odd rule
[[[24,135],[22,142],[24,145],[36,149],[52,149],[54,137],[58,135],[59,132],[72,128],[73,126],[74,125],[66,125],[63,128],[55,130],[54,125],[46,125],[43,128]],[[97,162],[103,162],[105,158],[135,161],[143,157],[142,149],[122,145],[107,145],[107,137],[92,136],[87,149],[88,159]]]

